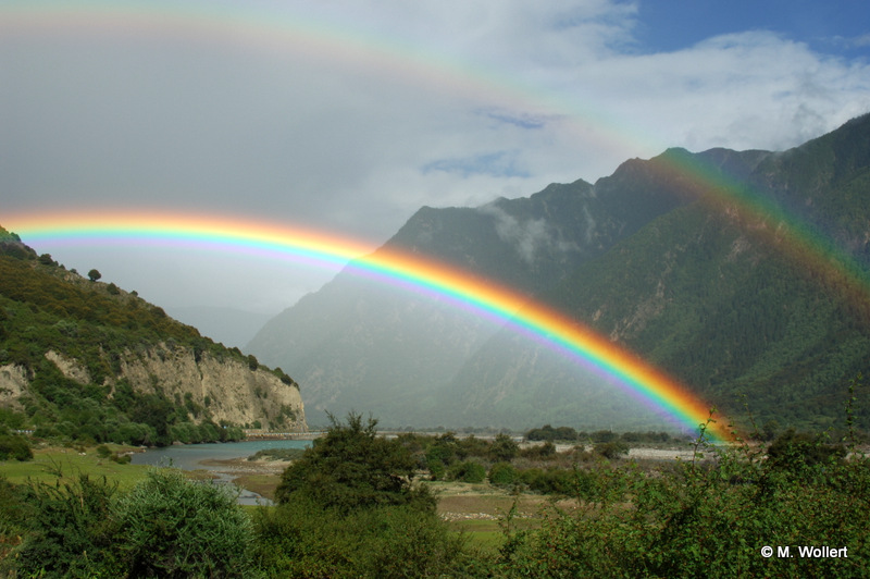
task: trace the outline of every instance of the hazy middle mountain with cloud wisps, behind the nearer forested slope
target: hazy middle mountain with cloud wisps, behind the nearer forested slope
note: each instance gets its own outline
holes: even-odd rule
[[[595,186],[550,185],[478,208],[419,210],[387,242],[534,295],[685,202],[655,163],[625,163]],[[306,385],[312,423],[324,411],[373,410],[389,426],[442,423],[437,393],[498,327],[425,296],[339,273],[270,321],[248,344]]]

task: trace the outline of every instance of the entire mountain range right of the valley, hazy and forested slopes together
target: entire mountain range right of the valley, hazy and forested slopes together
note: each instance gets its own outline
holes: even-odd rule
[[[760,419],[832,423],[845,385],[870,367],[867,294],[847,295],[824,260],[801,254],[810,246],[795,250],[778,232],[796,215],[801,238],[833,239],[867,276],[868,125],[778,153],[671,149],[595,185],[423,208],[386,246],[544,300],[720,409],[741,410],[744,393]],[[612,383],[508,328],[348,271],[248,350],[293,372],[312,423],[352,408],[395,427],[661,427]]]

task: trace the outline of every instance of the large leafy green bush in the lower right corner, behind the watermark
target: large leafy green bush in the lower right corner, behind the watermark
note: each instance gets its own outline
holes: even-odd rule
[[[820,444],[818,441],[813,444]],[[652,473],[601,466],[574,510],[508,537],[501,577],[868,577],[870,460],[831,457],[799,472],[748,445],[696,451],[714,460]],[[808,476],[811,473],[811,476]],[[774,556],[761,556],[772,545]],[[790,546],[780,559],[776,545]],[[848,547],[800,557],[796,545]]]

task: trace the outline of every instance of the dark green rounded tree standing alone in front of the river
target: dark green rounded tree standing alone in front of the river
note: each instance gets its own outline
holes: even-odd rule
[[[398,441],[377,435],[377,420],[349,412],[347,424],[330,416],[326,435],[287,467],[275,491],[278,503],[308,498],[350,512],[380,505],[414,505],[433,510],[425,486],[413,488],[417,461]]]

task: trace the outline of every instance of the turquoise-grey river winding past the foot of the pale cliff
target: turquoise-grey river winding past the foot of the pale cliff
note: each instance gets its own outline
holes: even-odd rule
[[[227,467],[214,465],[213,460],[245,458],[265,448],[308,448],[311,441],[244,441],[209,444],[174,444],[163,448],[151,448],[136,453],[132,457],[134,465],[152,465],[174,467],[182,470],[209,470],[220,482],[232,482],[238,476]],[[241,489],[239,504],[269,504],[270,501],[257,493]]]

